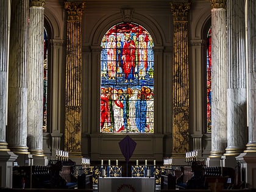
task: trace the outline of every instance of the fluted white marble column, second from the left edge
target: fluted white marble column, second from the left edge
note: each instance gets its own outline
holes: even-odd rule
[[[12,0],[7,142],[16,154],[27,151],[27,33],[29,0]]]

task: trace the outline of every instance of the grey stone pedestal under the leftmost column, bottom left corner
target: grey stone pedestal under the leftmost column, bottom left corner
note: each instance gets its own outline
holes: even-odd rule
[[[11,151],[0,151],[0,186],[2,188],[12,188],[12,167],[18,155]]]

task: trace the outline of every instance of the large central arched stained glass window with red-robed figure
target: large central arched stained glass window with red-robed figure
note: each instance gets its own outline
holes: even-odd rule
[[[101,42],[101,133],[154,133],[154,43],[135,23]]]

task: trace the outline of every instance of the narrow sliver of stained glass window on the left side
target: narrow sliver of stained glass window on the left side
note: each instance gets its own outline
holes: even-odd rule
[[[47,130],[47,89],[48,89],[48,35],[44,29],[44,41],[43,41],[43,132]]]

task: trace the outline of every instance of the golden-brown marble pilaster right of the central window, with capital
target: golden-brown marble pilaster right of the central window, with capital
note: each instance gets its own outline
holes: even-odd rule
[[[190,3],[172,2],[174,22],[172,154],[189,151],[188,11]]]

